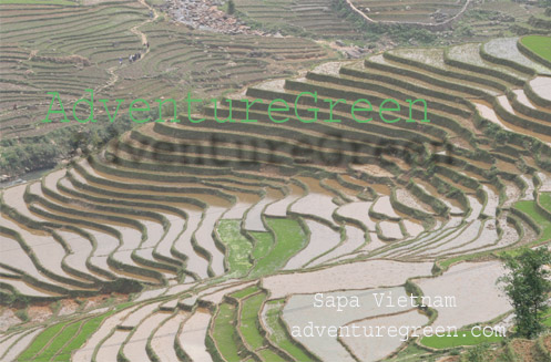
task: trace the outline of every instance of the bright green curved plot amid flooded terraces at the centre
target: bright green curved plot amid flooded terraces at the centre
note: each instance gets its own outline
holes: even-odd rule
[[[252,277],[264,276],[283,268],[307,241],[306,234],[297,220],[266,218],[266,224],[275,235],[275,245],[264,258],[257,260],[251,271]]]

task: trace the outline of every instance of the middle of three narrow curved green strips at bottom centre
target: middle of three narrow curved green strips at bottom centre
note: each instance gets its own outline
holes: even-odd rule
[[[258,312],[265,299],[265,293],[257,293],[242,301],[239,331],[253,351],[265,345],[265,340],[258,330],[257,321]]]

